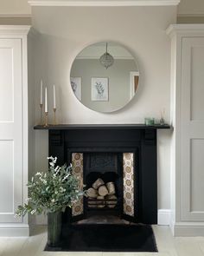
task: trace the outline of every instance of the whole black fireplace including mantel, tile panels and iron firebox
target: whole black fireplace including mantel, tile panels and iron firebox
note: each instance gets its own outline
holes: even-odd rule
[[[41,128],[43,127],[35,127],[35,129]],[[83,220],[94,214],[115,214],[125,220],[156,224],[156,129],[158,128],[169,128],[169,126],[48,127],[49,155],[57,156],[59,165],[73,162],[73,172],[78,175],[81,186],[84,183],[86,188],[92,187],[95,181],[101,179],[106,187],[108,182],[113,182],[116,190],[116,198],[113,199],[108,200],[106,196],[99,200],[81,199],[72,211],[67,210],[64,214],[64,222]],[[125,169],[128,172],[125,172]]]

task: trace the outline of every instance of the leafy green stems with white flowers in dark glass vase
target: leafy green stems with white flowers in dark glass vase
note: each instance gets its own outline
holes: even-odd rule
[[[72,166],[55,167],[56,157],[48,157],[47,172],[36,173],[28,183],[29,198],[19,206],[17,216],[48,214],[48,246],[57,246],[61,240],[61,213],[80,200],[84,192],[79,180],[72,174]]]

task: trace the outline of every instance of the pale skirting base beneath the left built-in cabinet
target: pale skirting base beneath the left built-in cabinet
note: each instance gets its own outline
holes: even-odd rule
[[[0,237],[28,237],[28,224],[0,225]]]

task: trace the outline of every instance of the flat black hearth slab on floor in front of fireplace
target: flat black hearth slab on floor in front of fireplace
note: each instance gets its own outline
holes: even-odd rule
[[[70,225],[63,227],[58,252],[158,252],[150,225]]]

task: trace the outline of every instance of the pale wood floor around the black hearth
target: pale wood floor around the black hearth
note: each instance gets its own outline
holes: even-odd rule
[[[43,252],[46,226],[37,226],[29,238],[0,238],[0,256],[204,256],[204,237],[173,238],[168,226],[153,226],[159,253]]]

